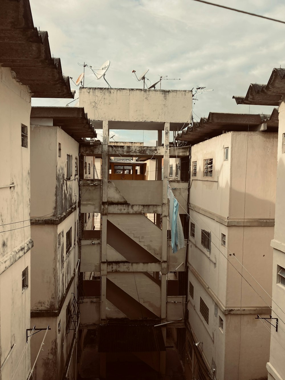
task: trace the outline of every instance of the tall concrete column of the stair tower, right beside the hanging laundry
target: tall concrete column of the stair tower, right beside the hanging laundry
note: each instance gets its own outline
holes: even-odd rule
[[[163,152],[163,184],[162,184],[162,242],[161,261],[167,262],[167,227],[168,227],[168,164],[169,164],[169,123],[165,123]],[[162,264],[162,267],[164,265]],[[167,266],[166,266],[167,267]],[[166,318],[166,282],[167,271],[161,271],[161,319]]]

